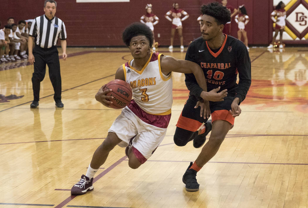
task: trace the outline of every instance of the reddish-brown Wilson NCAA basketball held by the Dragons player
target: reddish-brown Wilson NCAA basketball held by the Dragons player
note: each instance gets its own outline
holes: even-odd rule
[[[107,85],[104,87],[103,91],[105,90],[112,90],[106,95],[113,96],[113,100],[107,99],[108,101],[112,102],[112,104],[110,104],[110,107],[113,109],[124,108],[132,100],[131,86],[121,79],[115,79],[108,82]]]

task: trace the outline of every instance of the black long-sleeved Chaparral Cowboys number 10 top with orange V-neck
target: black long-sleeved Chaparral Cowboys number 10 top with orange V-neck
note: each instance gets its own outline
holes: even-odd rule
[[[246,46],[240,40],[226,35],[221,48],[216,51],[213,52],[208,43],[200,37],[189,45],[185,60],[201,66],[208,91],[220,86],[220,90],[228,89],[228,95],[232,94],[242,102],[251,84],[251,64]],[[237,74],[240,78],[238,84]],[[201,99],[203,90],[193,74],[185,74],[185,83],[190,95]]]

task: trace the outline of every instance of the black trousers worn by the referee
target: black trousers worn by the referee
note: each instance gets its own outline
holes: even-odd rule
[[[54,88],[55,102],[61,101],[61,74],[59,53],[56,46],[51,48],[41,48],[38,45],[34,46],[34,72],[32,74],[32,88],[34,101],[39,101],[40,83],[43,81],[46,74],[46,64],[48,66],[49,78]]]

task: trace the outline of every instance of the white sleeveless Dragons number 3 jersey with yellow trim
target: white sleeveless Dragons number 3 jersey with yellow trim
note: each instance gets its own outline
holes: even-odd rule
[[[160,56],[151,53],[142,70],[132,67],[133,60],[123,64],[125,81],[132,87],[132,98],[148,114],[168,115],[172,106],[172,77],[160,69]]]

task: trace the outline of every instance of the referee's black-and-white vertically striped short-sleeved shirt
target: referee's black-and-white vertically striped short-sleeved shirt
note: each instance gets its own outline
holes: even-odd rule
[[[35,37],[35,44],[42,48],[51,48],[57,45],[58,38],[67,38],[64,22],[56,16],[50,20],[45,14],[34,19],[29,35]]]

